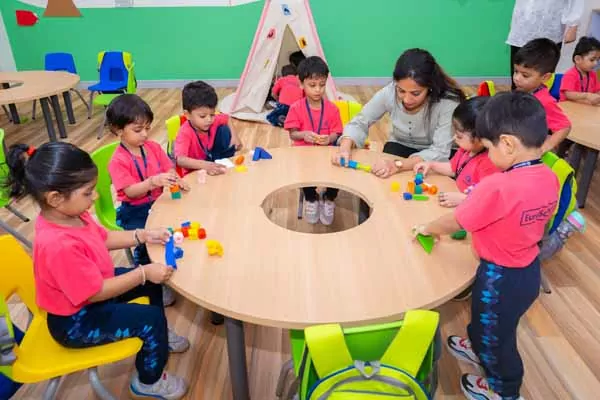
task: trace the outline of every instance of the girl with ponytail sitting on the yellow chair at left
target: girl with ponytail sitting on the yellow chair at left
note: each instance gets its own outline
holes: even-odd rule
[[[31,195],[40,206],[35,224],[33,266],[36,302],[47,311],[54,340],[65,347],[92,347],[137,337],[130,392],[136,398],[180,399],[183,379],[164,371],[171,348],[161,285],[173,269],[158,263],[135,269],[115,268],[110,250],[144,243],[165,243],[166,229],[107,231],[88,210],[96,198],[98,169],[90,155],[65,142],[34,150],[10,148],[11,197]],[[149,305],[129,301],[147,296]]]

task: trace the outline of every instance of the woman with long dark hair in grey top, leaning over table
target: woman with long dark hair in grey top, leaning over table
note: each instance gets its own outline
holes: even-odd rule
[[[387,178],[422,161],[447,161],[452,148],[452,113],[465,95],[426,50],[402,53],[394,81],[379,90],[344,128],[333,158],[349,160],[353,147],[363,147],[369,127],[390,114],[392,129],[383,152],[406,160],[385,158],[372,171]]]

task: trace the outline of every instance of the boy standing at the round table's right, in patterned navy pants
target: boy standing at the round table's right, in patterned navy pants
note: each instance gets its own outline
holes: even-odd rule
[[[484,179],[453,213],[415,227],[414,233],[471,232],[480,258],[471,323],[468,338],[450,336],[448,347],[484,371],[483,377],[463,375],[467,398],[519,399],[523,363],[517,325],[539,294],[538,243],[556,208],[559,183],[540,160],[548,126],[533,96],[513,92],[490,98],[476,129],[490,159],[504,172]]]

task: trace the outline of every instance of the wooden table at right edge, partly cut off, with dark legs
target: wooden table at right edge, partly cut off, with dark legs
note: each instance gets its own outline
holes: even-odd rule
[[[581,180],[577,182],[577,204],[583,208],[600,150],[600,107],[571,101],[558,104],[571,120],[571,132],[569,132],[568,139],[572,140],[575,145],[569,156],[569,163],[576,173],[579,170],[582,155],[585,156]]]

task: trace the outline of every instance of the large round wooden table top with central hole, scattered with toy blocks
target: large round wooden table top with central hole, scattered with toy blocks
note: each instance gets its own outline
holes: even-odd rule
[[[165,190],[147,226],[179,227],[197,221],[225,254],[209,257],[204,241],[185,240],[184,257],[170,285],[193,302],[235,319],[259,325],[304,328],[399,319],[410,309],[436,307],[474,278],[477,262],[470,239],[443,238],[432,254],[412,241],[411,228],[450,212],[429,201],[405,201],[390,190],[410,173],[382,180],[372,174],[331,165],[335,148],[269,149],[272,160],[246,161],[248,172],[228,171],[197,182],[172,200]],[[374,162],[381,153],[365,150],[354,158]],[[456,190],[446,177],[428,183]],[[271,222],[261,204],[272,193],[301,186],[334,186],[361,196],[370,218],[343,232],[306,234]],[[149,245],[150,257],[165,262],[164,248]]]

